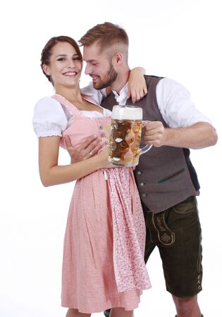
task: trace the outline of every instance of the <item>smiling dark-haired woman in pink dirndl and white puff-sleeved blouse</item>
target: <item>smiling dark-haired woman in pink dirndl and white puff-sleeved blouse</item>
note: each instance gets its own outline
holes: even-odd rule
[[[107,159],[110,111],[82,95],[82,55],[70,37],[53,37],[42,51],[42,70],[56,94],[35,106],[39,173],[44,186],[77,180],[70,202],[63,251],[62,306],[66,317],[88,317],[111,308],[112,317],[131,317],[142,290],[150,287],[144,266],[145,226],[132,168],[113,168]],[[99,154],[58,166],[66,137],[78,147],[90,135]]]

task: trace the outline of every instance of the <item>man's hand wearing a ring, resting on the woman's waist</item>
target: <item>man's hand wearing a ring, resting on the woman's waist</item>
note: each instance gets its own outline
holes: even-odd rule
[[[65,137],[66,149],[71,158],[71,163],[78,163],[85,159],[90,159],[91,156],[94,156],[101,149],[102,144],[99,139],[91,135],[88,137],[82,144],[74,149],[68,136]]]

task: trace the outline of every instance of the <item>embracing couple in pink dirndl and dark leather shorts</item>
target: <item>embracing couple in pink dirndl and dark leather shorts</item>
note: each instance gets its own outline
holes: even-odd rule
[[[150,287],[145,263],[155,247],[178,317],[200,317],[199,182],[189,149],[216,144],[216,131],[178,82],[130,72],[123,28],[96,25],[80,43],[83,58],[70,37],[44,46],[41,66],[56,94],[38,101],[33,118],[43,185],[77,180],[63,251],[66,317],[132,317]],[[83,59],[92,85],[80,89]],[[134,101],[149,120],[144,144],[153,147],[132,170],[111,165],[107,147],[113,105]],[[58,165],[60,146],[69,165]]]

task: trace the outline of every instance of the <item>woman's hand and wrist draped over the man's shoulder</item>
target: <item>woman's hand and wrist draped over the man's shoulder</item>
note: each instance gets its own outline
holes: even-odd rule
[[[128,80],[128,99],[131,97],[134,104],[135,101],[140,101],[146,94],[147,84],[144,79],[144,68],[133,68]]]

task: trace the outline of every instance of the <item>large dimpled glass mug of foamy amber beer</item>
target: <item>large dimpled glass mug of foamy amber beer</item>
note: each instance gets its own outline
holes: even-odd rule
[[[116,166],[137,166],[141,154],[152,145],[140,149],[142,128],[142,108],[137,106],[113,106],[111,115],[111,135],[109,138],[109,162]]]

